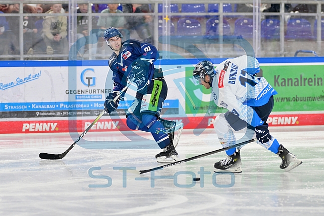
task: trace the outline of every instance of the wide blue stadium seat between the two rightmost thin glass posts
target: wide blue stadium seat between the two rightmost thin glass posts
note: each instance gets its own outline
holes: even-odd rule
[[[311,23],[303,18],[291,18],[287,23],[286,39],[313,40]]]

